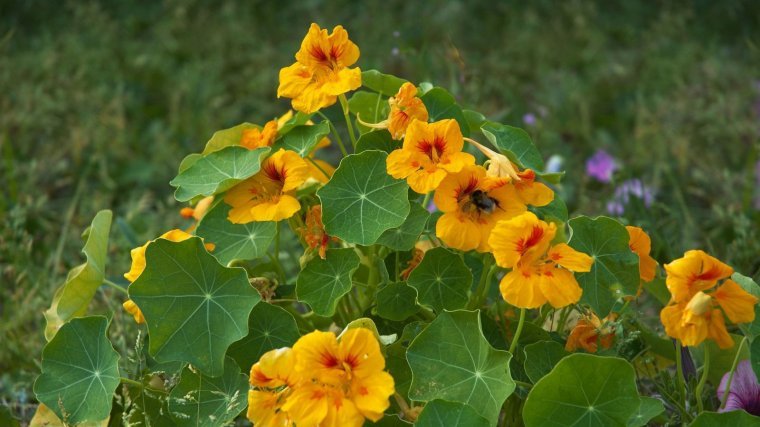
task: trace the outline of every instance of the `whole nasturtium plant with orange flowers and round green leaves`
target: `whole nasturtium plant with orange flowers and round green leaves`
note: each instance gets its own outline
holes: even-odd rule
[[[33,425],[758,424],[751,277],[578,215],[542,134],[362,71],[342,26],[293,48],[292,110],[177,159],[182,219],[127,254],[95,215]]]

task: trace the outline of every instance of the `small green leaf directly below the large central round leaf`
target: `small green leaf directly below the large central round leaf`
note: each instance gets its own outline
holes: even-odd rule
[[[354,249],[328,249],[325,259],[313,258],[298,273],[298,300],[320,316],[332,316],[338,300],[351,290],[351,276],[357,268],[359,255]]]

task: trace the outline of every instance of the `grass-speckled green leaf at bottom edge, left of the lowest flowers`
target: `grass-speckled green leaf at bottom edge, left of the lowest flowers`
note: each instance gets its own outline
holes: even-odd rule
[[[248,377],[229,357],[224,373],[212,378],[186,366],[169,394],[169,411],[183,426],[224,426],[248,404]]]

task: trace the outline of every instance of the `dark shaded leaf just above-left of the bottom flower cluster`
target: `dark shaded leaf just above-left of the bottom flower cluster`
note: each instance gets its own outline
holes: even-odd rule
[[[248,335],[233,343],[227,355],[246,371],[267,351],[290,347],[299,336],[292,314],[282,307],[260,302],[248,317]]]

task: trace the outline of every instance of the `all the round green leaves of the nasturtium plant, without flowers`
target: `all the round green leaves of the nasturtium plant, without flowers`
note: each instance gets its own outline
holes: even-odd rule
[[[366,71],[362,82],[363,90],[353,94],[344,111],[347,117],[351,113],[377,122],[387,115],[387,98],[404,81]],[[421,89],[431,120],[454,119],[465,136],[479,133],[519,167],[544,169],[525,131],[462,109],[443,88],[423,84]],[[295,115],[271,149],[238,145],[253,124],[217,132],[202,153],[182,161],[172,181],[175,197],[220,199],[259,172],[270,152],[312,153],[335,127],[327,120],[307,124],[309,119]],[[590,255],[594,264],[578,275],[583,288],[578,305],[543,308],[527,322],[522,312],[518,320],[500,297],[481,298],[480,290],[496,289],[485,268],[488,254],[439,244],[408,276],[401,274],[421,236],[436,241],[436,214],[427,211],[425,197],[388,175],[386,158],[400,143],[387,131],[356,126],[361,136],[354,152],[341,160],[329,182],[298,193],[299,199],[321,205],[325,232],[340,241],[324,259],[307,252],[300,271],[288,274],[280,262],[280,243],[287,237],[283,224],[234,224],[227,220],[229,206],[222,200],[194,228],[197,237],[158,239],[147,247],[146,268],[125,291],[140,307],[147,327],[138,338],[132,375],[120,367],[120,355],[108,339],[108,318],[87,315],[95,291],[106,282],[111,214],[99,213],[86,237],[87,262],[72,270],[46,312],[49,343],[34,387],[44,405],[39,416],[51,416],[49,410],[74,425],[109,417],[148,425],[225,425],[245,409],[245,373],[263,353],[290,346],[315,328],[358,324],[377,332],[396,382],[397,406],[381,421],[384,425],[692,421],[689,408],[666,412],[663,400],[639,392],[640,387],[668,391],[672,376],[648,375],[654,385],[637,383],[637,378],[650,366],[673,360],[675,352],[631,308],[637,304],[639,259],[622,223],[606,217],[569,219],[561,199],[535,209],[559,225],[561,236],[570,235],[569,245]],[[561,179],[561,174],[539,176],[548,183]],[[297,222],[287,225],[297,233]],[[215,245],[212,252],[204,241]],[[751,280],[744,284],[757,290]],[[662,303],[667,302],[662,279],[649,287],[652,295],[664,292]],[[565,321],[572,312],[589,308],[600,317],[618,313],[619,345],[604,355],[569,354],[563,346]],[[556,328],[555,319],[560,323]],[[749,325],[744,331],[748,339],[755,328]],[[757,343],[748,347],[754,360],[760,352]],[[736,359],[746,351],[742,344],[732,352],[707,351],[714,350],[715,360]],[[716,372],[730,370],[712,366]],[[677,403],[665,402],[670,407]],[[693,425],[711,425],[714,419],[753,422],[748,415],[703,412]]]

